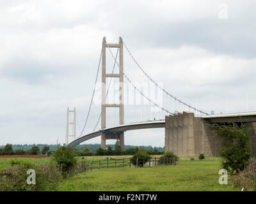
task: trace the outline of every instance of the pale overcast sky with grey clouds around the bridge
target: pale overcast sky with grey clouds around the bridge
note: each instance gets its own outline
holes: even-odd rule
[[[255,8],[253,0],[0,0],[0,145],[65,143],[67,107],[83,128],[104,36],[121,36],[148,75],[196,108],[256,110]],[[125,133],[125,144],[163,147],[164,130]]]

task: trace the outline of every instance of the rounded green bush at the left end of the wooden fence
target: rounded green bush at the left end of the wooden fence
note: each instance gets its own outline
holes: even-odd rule
[[[58,147],[56,152],[52,154],[52,159],[60,166],[63,177],[67,177],[77,164],[77,154],[70,147]]]

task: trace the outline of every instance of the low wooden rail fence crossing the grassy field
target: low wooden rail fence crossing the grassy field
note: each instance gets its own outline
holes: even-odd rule
[[[100,170],[102,168],[150,168],[161,165],[175,165],[175,157],[163,159],[161,157],[154,157],[150,159],[143,158],[122,158],[122,159],[93,159],[86,161],[79,161],[76,166],[76,173],[84,171]]]

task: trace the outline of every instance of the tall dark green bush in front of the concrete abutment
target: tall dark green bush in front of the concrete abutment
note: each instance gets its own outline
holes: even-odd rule
[[[250,148],[248,140],[252,134],[252,129],[241,124],[219,125],[213,124],[214,135],[221,136],[220,156],[222,157],[221,166],[231,175],[237,171],[243,171],[245,164],[250,158]]]

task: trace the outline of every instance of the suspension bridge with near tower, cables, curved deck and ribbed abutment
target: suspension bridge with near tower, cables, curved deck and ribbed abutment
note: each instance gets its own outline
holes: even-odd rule
[[[113,50],[116,50],[116,54]],[[127,65],[135,66],[136,71],[131,68],[124,69],[124,50],[131,59]],[[109,68],[107,55],[108,58],[113,59],[113,67]],[[101,90],[99,91],[97,87],[99,87],[100,74]],[[100,99],[96,95],[100,95]],[[97,110],[100,109],[97,117],[91,113],[93,104],[97,104]],[[108,120],[112,120],[112,124],[109,124]],[[119,38],[118,43],[107,43],[104,37],[93,94],[83,129],[68,145],[74,148],[79,143],[101,136],[102,149],[106,149],[106,140],[115,139],[120,140],[121,149],[124,150],[125,131],[164,128],[166,151],[173,151],[179,156],[195,156],[199,153],[217,156],[220,138],[211,135],[211,128],[207,124],[212,122],[246,122],[252,126],[251,144],[256,154],[256,112],[209,115],[201,108],[175,97],[163,88],[163,84],[157,83],[150,77],[141,68],[122,38]]]

